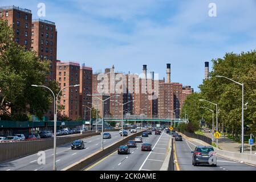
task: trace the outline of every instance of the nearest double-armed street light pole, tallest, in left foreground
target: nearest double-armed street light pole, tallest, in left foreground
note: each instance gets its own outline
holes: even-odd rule
[[[43,88],[46,88],[48,90],[51,91],[52,93],[52,96],[54,96],[54,161],[53,161],[53,170],[56,171],[56,130],[57,130],[57,102],[58,102],[58,97],[59,97],[59,94],[60,92],[62,92],[63,89],[66,89],[68,87],[76,87],[76,86],[79,86],[79,85],[69,85],[69,86],[65,86],[64,88],[60,89],[56,98],[55,98],[55,94],[54,92],[52,92],[52,90],[50,88],[48,88],[47,86],[44,86],[44,85],[31,85],[31,86],[35,86],[35,87],[43,87]]]

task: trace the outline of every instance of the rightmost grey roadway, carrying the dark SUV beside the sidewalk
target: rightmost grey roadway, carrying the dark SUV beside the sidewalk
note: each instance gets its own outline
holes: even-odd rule
[[[217,167],[209,165],[193,166],[192,165],[192,153],[195,146],[201,146],[196,142],[189,142],[183,138],[183,141],[176,141],[174,160],[177,160],[177,164],[174,164],[176,171],[256,171],[256,167],[249,164],[235,162],[233,160],[227,160],[217,156]]]

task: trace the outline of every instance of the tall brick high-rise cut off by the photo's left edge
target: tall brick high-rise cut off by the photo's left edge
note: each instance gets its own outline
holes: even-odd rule
[[[0,7],[0,18],[7,20],[8,25],[13,28],[14,41],[26,50],[31,48],[31,10],[17,6]]]

